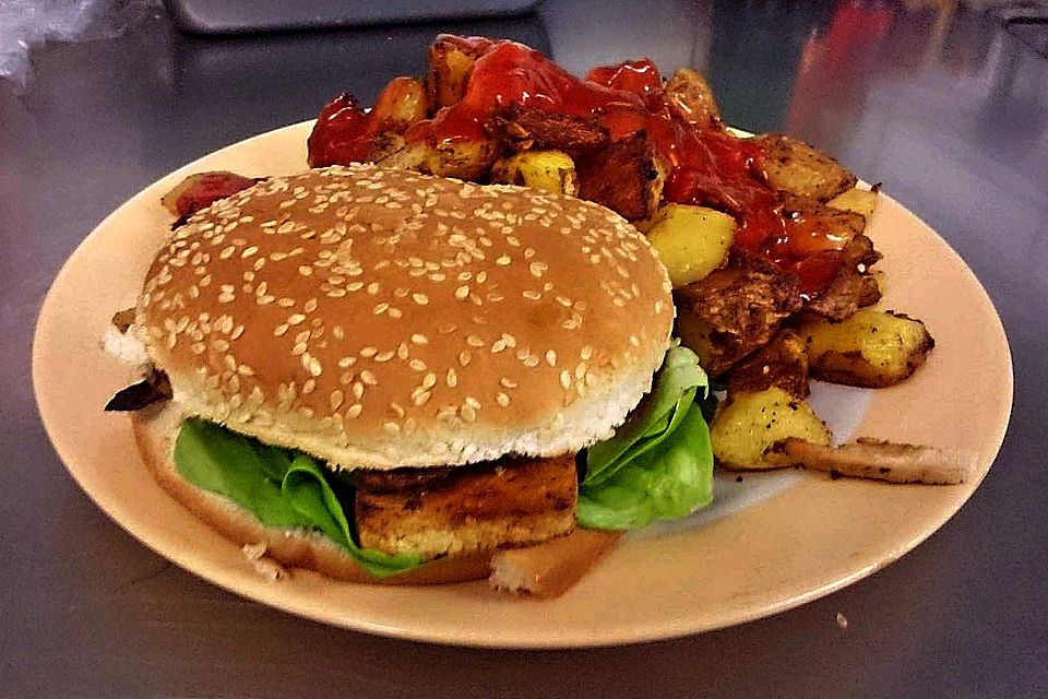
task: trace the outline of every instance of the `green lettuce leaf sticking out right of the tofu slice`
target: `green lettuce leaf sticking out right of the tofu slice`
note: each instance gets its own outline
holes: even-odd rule
[[[672,347],[652,393],[615,436],[588,450],[579,523],[628,530],[687,517],[713,501],[708,380],[690,350]]]

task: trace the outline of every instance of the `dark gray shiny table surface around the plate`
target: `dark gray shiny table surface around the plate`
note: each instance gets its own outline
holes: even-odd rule
[[[534,17],[236,39],[155,16],[36,50],[25,90],[0,81],[0,695],[1048,696],[1048,64],[1028,27],[1016,38],[980,11],[860,4],[550,0]],[[62,261],[175,167],[420,73],[438,29],[520,38],[576,72],[640,54],[694,66],[729,122],[788,130],[886,182],[967,260],[1011,342],[1011,428],[970,501],[898,562],[801,608],[570,652],[329,628],[199,580],[109,521],[33,400],[32,332]]]

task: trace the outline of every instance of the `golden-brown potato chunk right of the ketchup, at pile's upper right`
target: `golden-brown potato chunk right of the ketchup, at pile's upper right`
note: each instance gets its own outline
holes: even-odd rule
[[[767,183],[790,194],[825,201],[855,187],[855,175],[803,141],[782,133],[757,137],[764,146]]]

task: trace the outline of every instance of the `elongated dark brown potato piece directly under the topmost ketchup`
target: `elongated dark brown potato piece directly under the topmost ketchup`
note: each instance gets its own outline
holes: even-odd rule
[[[516,103],[499,110],[487,126],[514,151],[553,150],[577,157],[608,142],[608,130],[594,117],[575,117]]]

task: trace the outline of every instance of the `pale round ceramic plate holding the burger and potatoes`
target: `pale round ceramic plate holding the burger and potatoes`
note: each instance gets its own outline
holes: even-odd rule
[[[718,501],[692,520],[627,537],[563,597],[500,595],[484,582],[386,588],[295,573],[257,576],[238,547],[169,498],[143,467],[129,420],[103,412],[128,370],[99,337],[133,305],[169,225],[159,199],[194,171],[306,168],[300,123],[207,155],[106,218],[66,263],[40,311],[33,348],[37,401],[55,448],[88,496],[155,552],[228,590],[306,617],[384,636],[489,647],[627,643],[767,616],[843,588],[895,560],[943,524],[993,461],[1012,401],[1008,342],[970,270],[928,226],[882,196],[871,237],[885,259],[882,306],[924,319],[937,346],[903,384],[817,387],[838,437],[854,433],[973,450],[961,486],[890,486],[817,474],[718,479]]]

